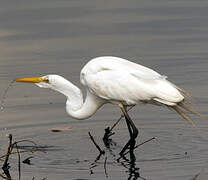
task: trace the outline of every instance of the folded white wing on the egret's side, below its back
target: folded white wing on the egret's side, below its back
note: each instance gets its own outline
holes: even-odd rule
[[[111,101],[125,101],[129,105],[150,100],[153,95],[149,83],[122,71],[100,71],[85,76],[85,81],[88,88],[97,96]]]

